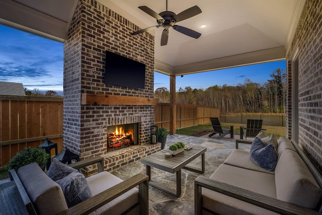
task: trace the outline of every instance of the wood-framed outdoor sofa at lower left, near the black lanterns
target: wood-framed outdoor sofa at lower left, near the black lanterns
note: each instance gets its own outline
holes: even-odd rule
[[[67,206],[68,201],[61,185],[48,176],[50,168],[47,175],[36,163],[32,163],[19,168],[17,173],[15,170],[10,170],[10,174],[29,214],[148,214],[146,175],[139,173],[122,181],[103,171],[102,157],[76,162],[69,166],[75,169],[73,174],[81,174],[78,169],[95,165],[91,167],[93,168],[96,164],[98,173],[82,179],[87,181],[92,197],[71,207]],[[70,183],[66,187],[69,189],[71,186]],[[84,195],[84,192],[78,196],[80,195]]]

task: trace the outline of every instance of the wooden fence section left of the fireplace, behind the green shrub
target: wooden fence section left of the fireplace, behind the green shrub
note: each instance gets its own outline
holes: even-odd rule
[[[0,167],[24,148],[38,147],[46,137],[61,152],[62,133],[63,98],[0,96]]]

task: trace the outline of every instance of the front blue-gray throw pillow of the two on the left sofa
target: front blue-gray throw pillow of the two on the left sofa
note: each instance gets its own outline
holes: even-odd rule
[[[92,192],[85,176],[77,170],[57,180],[56,183],[60,185],[68,207],[92,197]]]

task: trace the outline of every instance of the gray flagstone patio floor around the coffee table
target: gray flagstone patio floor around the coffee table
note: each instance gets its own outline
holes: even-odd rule
[[[205,153],[205,172],[202,174],[205,177],[210,175],[222,164],[232,150],[235,148],[235,139],[229,138],[228,135],[218,140],[216,137],[208,137],[207,135],[201,137],[185,136],[185,135],[169,135],[167,138],[166,149],[178,142],[182,141],[184,144],[191,146],[200,146],[207,148]],[[250,145],[240,145],[241,149],[250,148]],[[201,167],[201,157],[198,157],[191,162],[192,166]],[[137,173],[145,174],[145,165],[140,161],[130,163],[126,166],[120,167],[111,172],[115,176],[125,180]],[[182,194],[180,197],[173,196],[162,190],[149,186],[149,214],[194,214],[194,180],[200,174],[182,169]],[[163,170],[151,168],[151,180],[167,187],[175,189],[176,174],[171,174]]]

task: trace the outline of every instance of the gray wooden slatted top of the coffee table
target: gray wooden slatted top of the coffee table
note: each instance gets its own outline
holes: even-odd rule
[[[184,150],[176,156],[166,158],[165,153],[170,153],[170,151],[169,149],[165,149],[141,159],[141,163],[170,173],[175,173],[206,151],[207,148],[194,146],[191,150]]]

